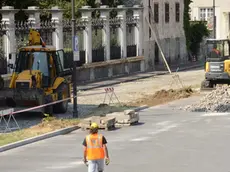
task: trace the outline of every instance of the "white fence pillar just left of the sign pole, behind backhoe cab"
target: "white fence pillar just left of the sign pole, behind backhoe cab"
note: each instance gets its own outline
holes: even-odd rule
[[[51,21],[55,24],[55,31],[52,34],[53,46],[56,47],[57,50],[61,50],[64,48],[63,46],[63,10],[59,9],[57,6],[51,8],[52,19]],[[60,57],[62,67],[64,69],[64,57]]]

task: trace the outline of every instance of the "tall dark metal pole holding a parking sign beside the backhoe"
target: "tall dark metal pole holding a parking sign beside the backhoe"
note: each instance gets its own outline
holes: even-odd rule
[[[72,80],[73,80],[73,117],[78,117],[78,111],[77,111],[77,69],[76,69],[76,60],[75,60],[75,27],[76,27],[76,20],[75,20],[75,0],[71,0],[72,2],[72,51],[73,51],[73,74],[72,74]]]

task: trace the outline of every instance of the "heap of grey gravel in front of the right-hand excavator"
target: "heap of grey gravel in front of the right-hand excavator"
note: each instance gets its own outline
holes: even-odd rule
[[[230,87],[218,86],[198,103],[186,106],[190,112],[230,112]]]

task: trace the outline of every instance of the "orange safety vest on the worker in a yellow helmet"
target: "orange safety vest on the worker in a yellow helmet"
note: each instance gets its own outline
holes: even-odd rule
[[[90,134],[86,136],[87,159],[96,160],[104,159],[105,152],[102,143],[101,134]]]

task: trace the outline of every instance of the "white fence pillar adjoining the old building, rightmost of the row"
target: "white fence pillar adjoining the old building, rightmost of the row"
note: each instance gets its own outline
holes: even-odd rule
[[[134,28],[135,44],[137,46],[137,56],[143,55],[143,14],[140,5],[134,5],[133,17],[136,19],[136,26]]]

